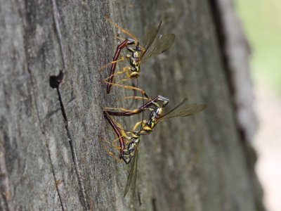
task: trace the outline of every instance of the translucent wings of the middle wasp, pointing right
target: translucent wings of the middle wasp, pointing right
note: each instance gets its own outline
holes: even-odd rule
[[[205,104],[188,104],[188,98],[185,98],[175,108],[159,117],[159,121],[169,120],[174,117],[186,117],[199,113],[206,108]]]

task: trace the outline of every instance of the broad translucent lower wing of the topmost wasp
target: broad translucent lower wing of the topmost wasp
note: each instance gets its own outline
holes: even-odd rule
[[[150,45],[150,48],[141,55],[141,62],[145,63],[148,58],[157,56],[169,49],[174,43],[175,37],[175,34],[158,35]]]

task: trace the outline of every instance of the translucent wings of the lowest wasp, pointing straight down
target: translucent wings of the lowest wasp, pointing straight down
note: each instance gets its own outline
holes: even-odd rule
[[[133,193],[135,193],[135,188],[136,188],[136,176],[138,174],[138,145],[136,146],[135,149],[135,154],[133,155],[133,160],[131,163],[131,169],[130,173],[126,182],[126,187],[124,191],[124,197],[128,193],[129,189],[132,187]]]

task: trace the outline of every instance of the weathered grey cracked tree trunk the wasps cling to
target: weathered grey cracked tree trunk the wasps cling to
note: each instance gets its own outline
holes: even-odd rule
[[[1,210],[263,210],[254,115],[240,118],[241,87],[251,96],[247,51],[242,32],[231,33],[230,0],[0,2]],[[114,139],[103,107],[122,96],[100,82],[117,46],[105,16],[139,37],[164,20],[176,41],[143,65],[139,87],[171,106],[185,96],[207,104],[142,137],[135,197],[123,198],[129,167],[99,141]],[[53,75],[63,76],[58,89]]]

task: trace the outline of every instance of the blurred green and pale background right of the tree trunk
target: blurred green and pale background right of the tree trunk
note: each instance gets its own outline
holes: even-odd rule
[[[281,0],[234,0],[251,46],[256,174],[267,210],[281,211]]]

